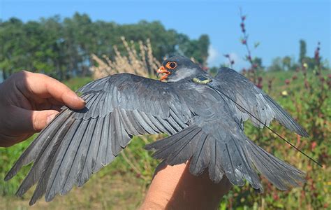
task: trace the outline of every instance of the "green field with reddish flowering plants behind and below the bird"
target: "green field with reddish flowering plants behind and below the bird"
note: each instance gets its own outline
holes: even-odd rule
[[[306,73],[305,73],[306,72]],[[310,137],[300,138],[277,123],[272,128],[302,151],[318,160],[323,168],[290,148],[284,141],[267,130],[258,130],[247,123],[246,133],[256,143],[279,158],[307,172],[307,183],[289,192],[276,190],[263,180],[265,193],[254,193],[248,185],[233,190],[223,197],[219,209],[328,209],[331,205],[331,71],[320,75],[306,71],[260,72],[263,90],[268,92],[307,130]],[[66,84],[78,89],[91,78],[75,78]],[[272,81],[270,83],[270,81]],[[161,136],[135,137],[111,165],[94,174],[82,188],[75,188],[65,197],[57,196],[52,202],[37,202],[31,209],[137,209],[149,186],[154,168],[159,161],[142,149],[148,142]],[[0,209],[28,209],[29,190],[23,198],[14,196],[28,168],[9,182],[3,177],[33,137],[11,148],[0,148]]]

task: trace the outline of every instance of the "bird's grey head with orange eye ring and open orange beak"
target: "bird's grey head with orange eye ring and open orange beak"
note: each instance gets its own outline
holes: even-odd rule
[[[198,64],[193,63],[191,59],[184,56],[174,56],[165,59],[157,73],[163,74],[160,80],[177,82],[185,78],[193,78],[205,72]]]

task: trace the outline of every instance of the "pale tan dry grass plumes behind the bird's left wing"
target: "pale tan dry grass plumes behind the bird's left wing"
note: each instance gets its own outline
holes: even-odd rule
[[[135,50],[135,43],[128,43],[125,38],[121,37],[126,54],[122,55],[115,45],[115,55],[113,59],[103,55],[103,59],[92,54],[97,65],[91,66],[90,70],[94,79],[112,75],[114,73],[134,73],[145,77],[155,77],[156,70],[161,66],[160,62],[153,56],[152,45],[147,39],[146,45],[139,41],[139,52]]]

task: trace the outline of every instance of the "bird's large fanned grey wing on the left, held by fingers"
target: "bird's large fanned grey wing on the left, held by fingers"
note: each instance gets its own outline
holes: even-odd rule
[[[11,179],[22,166],[34,162],[17,190],[22,196],[37,183],[30,204],[44,194],[50,201],[74,185],[82,186],[92,173],[108,165],[133,135],[175,134],[188,127],[192,117],[191,105],[184,99],[192,94],[177,94],[169,83],[132,74],[101,78],[78,92],[86,107],[80,111],[64,107],[5,178]]]

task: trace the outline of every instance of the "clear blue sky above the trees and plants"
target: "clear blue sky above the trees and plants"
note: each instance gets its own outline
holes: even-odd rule
[[[240,43],[240,7],[247,14],[249,43],[260,42],[253,56],[269,65],[277,56],[298,59],[299,40],[307,41],[307,55],[314,56],[318,41],[321,55],[331,60],[330,1],[41,1],[0,0],[0,18],[17,17],[23,21],[61,15],[71,17],[76,11],[92,20],[120,24],[139,20],[160,20],[167,29],[175,29],[191,38],[208,34],[209,66],[226,62],[223,54],[235,59],[235,69],[248,66],[242,58],[246,50]]]

